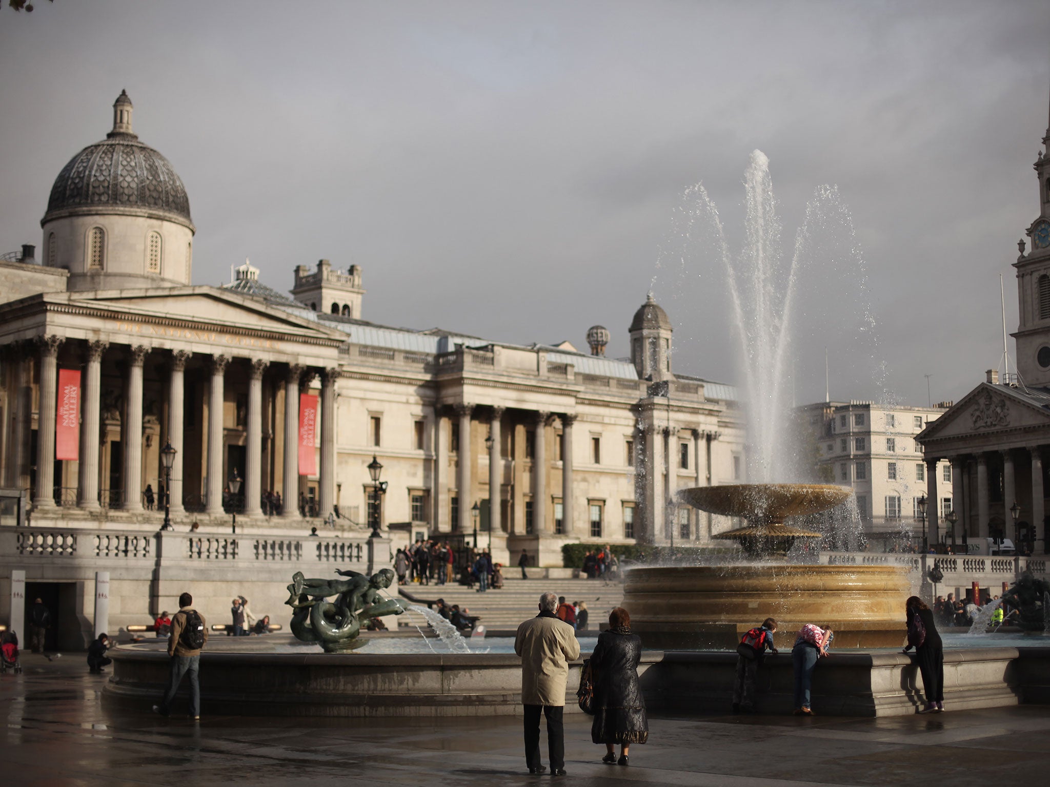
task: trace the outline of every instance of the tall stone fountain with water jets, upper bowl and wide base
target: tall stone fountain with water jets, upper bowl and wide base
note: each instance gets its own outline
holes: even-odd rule
[[[830,215],[844,215],[844,209],[834,189],[818,189],[789,256],[780,247],[769,159],[761,151],[752,153],[744,185],[747,242],[738,258],[729,253],[718,211],[702,186],[687,191],[687,198],[695,201],[680,215],[688,216],[685,234],[713,238],[721,256],[742,347],[748,469],[762,483],[681,489],[677,497],[715,515],[746,519],[746,526],[714,535],[736,541],[746,560],[633,569],[627,576],[624,604],[647,647],[732,648],[743,632],[765,617],[779,622],[778,644],[790,645],[794,633],[813,622],[831,624],[839,647],[894,647],[904,637],[909,582],[903,570],[788,561],[796,541],[822,534],[785,518],[830,510],[848,499],[852,490],[772,483],[800,481],[803,475],[791,462],[795,454],[788,434],[785,383],[794,300],[807,250],[818,242],[813,229],[826,226]],[[704,216],[710,221],[698,227]],[[684,253],[682,260],[687,256]],[[862,270],[859,257],[849,263]]]

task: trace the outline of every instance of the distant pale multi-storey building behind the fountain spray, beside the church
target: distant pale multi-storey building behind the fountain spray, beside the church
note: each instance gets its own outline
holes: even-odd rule
[[[921,539],[919,498],[926,495],[929,473],[943,482],[938,513],[951,512],[951,463],[928,461],[916,435],[950,406],[818,402],[798,407],[796,414],[807,427],[817,477],[854,489],[865,531]]]

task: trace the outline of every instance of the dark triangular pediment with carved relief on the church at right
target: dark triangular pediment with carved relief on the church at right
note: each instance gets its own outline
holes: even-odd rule
[[[1047,399],[1050,404],[1050,398]],[[989,434],[1050,428],[1050,410],[1031,393],[982,383],[916,435],[920,444],[976,440]]]

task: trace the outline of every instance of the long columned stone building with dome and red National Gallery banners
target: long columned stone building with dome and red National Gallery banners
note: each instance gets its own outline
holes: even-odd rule
[[[86,636],[101,582],[124,624],[175,609],[192,576],[225,619],[234,593],[387,566],[417,535],[561,566],[570,541],[729,526],[671,501],[744,480],[736,393],[674,374],[651,296],[613,360],[597,325],[582,353],[366,322],[361,268],[323,259],[288,295],[247,261],[194,285],[188,195],[126,93],[41,226],[0,260],[0,618],[54,592]]]

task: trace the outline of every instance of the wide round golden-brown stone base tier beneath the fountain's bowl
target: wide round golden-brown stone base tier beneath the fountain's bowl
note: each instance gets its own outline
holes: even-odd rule
[[[834,646],[904,644],[910,580],[891,566],[671,566],[627,574],[624,607],[646,647],[734,650],[768,617],[777,647],[805,623],[831,624]]]

